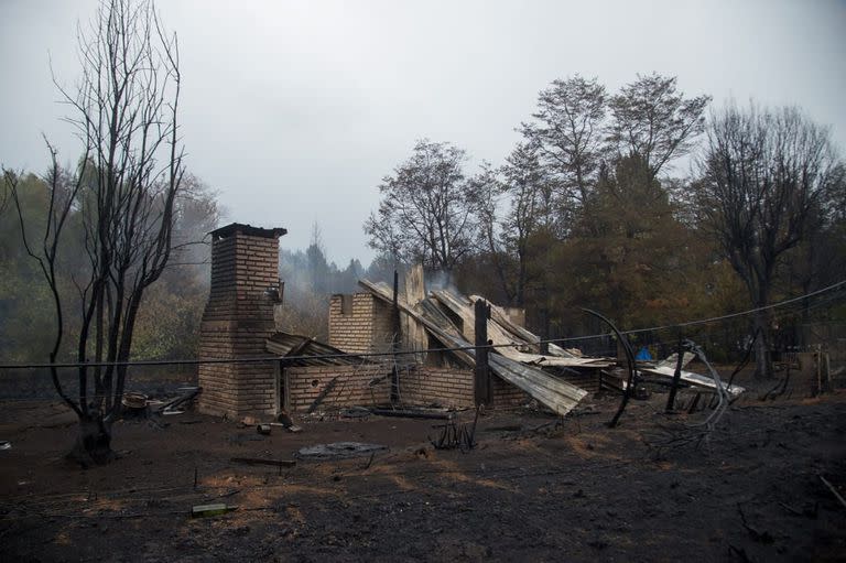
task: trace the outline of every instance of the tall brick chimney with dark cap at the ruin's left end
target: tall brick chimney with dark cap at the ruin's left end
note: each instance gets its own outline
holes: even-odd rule
[[[279,297],[283,228],[234,223],[212,231],[212,289],[199,333],[202,359],[265,356]],[[199,411],[238,418],[273,413],[272,364],[200,364]]]

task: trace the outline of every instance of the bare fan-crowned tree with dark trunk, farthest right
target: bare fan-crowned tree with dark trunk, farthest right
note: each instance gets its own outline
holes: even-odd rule
[[[796,108],[731,105],[712,116],[694,185],[696,205],[755,307],[770,304],[780,260],[842,185],[840,170],[828,130]],[[756,375],[770,377],[768,310],[756,313],[753,329],[760,331]]]

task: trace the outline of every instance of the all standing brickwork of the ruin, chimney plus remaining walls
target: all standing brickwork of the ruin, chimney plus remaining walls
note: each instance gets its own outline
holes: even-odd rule
[[[273,235],[243,232],[215,236],[212,288],[200,325],[202,359],[265,356],[273,334],[273,302],[265,294],[278,286],[279,242]],[[370,293],[333,295],[329,344],[351,354],[387,351],[393,337],[391,306]],[[199,367],[200,412],[231,418],[272,415],[276,410],[276,371],[272,364],[204,364]],[[384,404],[390,401],[390,367],[288,367],[281,371],[279,398],[293,412],[305,412],[324,392],[317,410]],[[333,383],[334,381],[334,383]],[[473,370],[411,366],[400,370],[400,399],[406,404],[474,405]],[[328,389],[328,392],[326,392]],[[494,405],[527,402],[519,389],[494,378]]]

